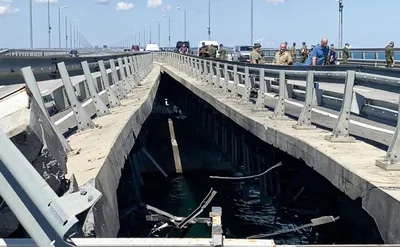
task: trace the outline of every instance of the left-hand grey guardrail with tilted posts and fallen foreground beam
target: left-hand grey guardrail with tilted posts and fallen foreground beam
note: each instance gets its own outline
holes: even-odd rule
[[[96,128],[92,117],[110,114],[109,108],[120,106],[121,99],[133,97],[128,93],[133,92],[133,88],[140,85],[153,68],[151,54],[127,56],[123,60],[119,58],[120,77],[118,77],[114,60],[111,59],[109,63],[111,69],[106,70],[104,62],[98,62],[101,82],[97,85],[94,84],[86,61],[82,62],[85,79],[75,85],[72,83],[73,78],[70,78],[64,62],[57,64],[63,84],[60,85],[60,88],[67,99],[64,99],[64,94],[58,96],[69,102],[63,109],[69,113],[64,114],[65,116],[61,118],[63,120],[59,119],[59,124],[69,120],[69,128],[78,128],[78,130]],[[24,67],[21,71],[30,99],[29,127],[43,143],[44,152],[50,153],[67,173],[66,153],[71,151],[71,147],[63,136],[66,129],[60,129],[57,126],[59,124],[50,118],[32,69]],[[113,79],[112,83],[109,81],[109,74]],[[79,88],[88,90],[90,98],[84,102],[79,100],[76,95]],[[67,113],[65,111],[64,113]],[[91,208],[99,200],[101,193],[87,184],[78,192],[58,197],[1,130],[0,143],[1,198],[11,208],[38,246],[70,246],[73,244],[70,240],[71,236],[80,232],[76,229],[75,224],[78,220],[75,216]],[[0,241],[0,245],[9,246],[13,242],[18,246],[23,243],[32,244],[27,240],[15,241]],[[67,244],[66,241],[69,243]]]

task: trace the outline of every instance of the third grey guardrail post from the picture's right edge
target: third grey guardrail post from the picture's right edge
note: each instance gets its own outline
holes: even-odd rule
[[[309,130],[315,129],[314,125],[311,125],[311,112],[314,98],[314,71],[307,71],[306,80],[306,98],[304,106],[301,109],[297,124],[293,125],[294,129],[298,130]]]

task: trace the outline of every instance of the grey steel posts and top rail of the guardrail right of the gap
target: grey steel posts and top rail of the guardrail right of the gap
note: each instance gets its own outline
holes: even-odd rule
[[[312,129],[311,112],[315,105],[316,90],[315,82],[338,82],[344,83],[343,100],[341,110],[336,120],[336,125],[331,135],[326,140],[331,142],[354,142],[355,138],[350,136],[350,113],[354,112],[354,106],[360,109],[354,86],[358,83],[367,82],[368,85],[380,87],[382,90],[399,89],[400,78],[365,73],[356,70],[327,71],[326,66],[310,66],[300,69],[284,66],[259,66],[252,64],[237,64],[213,59],[202,59],[197,56],[181,55],[173,52],[154,53],[155,59],[165,62],[174,68],[194,77],[204,83],[222,88],[223,92],[234,98],[240,98],[243,102],[250,101],[252,91],[257,92],[254,110],[265,110],[265,94],[271,91],[271,83],[265,78],[279,78],[278,101],[274,107],[274,119],[286,119],[285,104],[288,100],[288,85],[286,79],[300,79],[306,81],[304,105],[298,118],[295,129]],[[330,67],[335,68],[335,67]],[[258,78],[256,82],[255,78]],[[398,105],[397,107],[399,107]],[[400,170],[400,115],[399,108],[396,112],[397,126],[392,142],[384,160],[376,160],[376,165],[385,170]]]

